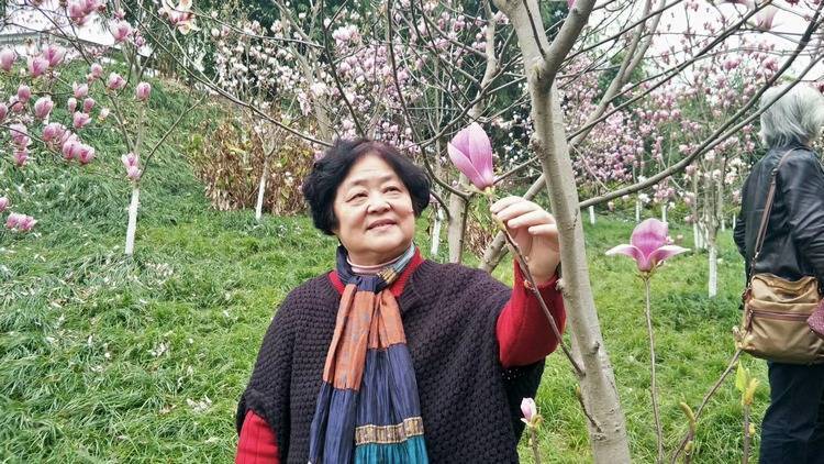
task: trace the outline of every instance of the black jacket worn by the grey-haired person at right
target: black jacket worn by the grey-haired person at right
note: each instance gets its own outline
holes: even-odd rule
[[[824,283],[824,169],[812,150],[801,144],[772,148],[753,166],[742,188],[733,236],[749,273],[770,175],[790,150],[778,170],[776,199],[755,273],[789,280],[816,276]]]

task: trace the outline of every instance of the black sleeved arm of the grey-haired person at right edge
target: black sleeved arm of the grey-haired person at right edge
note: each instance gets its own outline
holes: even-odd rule
[[[824,169],[804,153],[790,155],[779,176],[792,240],[824,281]]]

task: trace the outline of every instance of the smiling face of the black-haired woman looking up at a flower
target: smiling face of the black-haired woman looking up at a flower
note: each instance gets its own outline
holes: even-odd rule
[[[415,233],[412,198],[382,158],[364,155],[337,187],[332,231],[363,266],[386,263],[403,253]]]

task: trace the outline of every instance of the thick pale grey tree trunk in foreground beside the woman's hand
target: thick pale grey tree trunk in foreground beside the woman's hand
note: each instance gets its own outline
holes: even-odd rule
[[[575,172],[569,157],[564,112],[553,74],[557,69],[545,65],[564,56],[564,44],[577,38],[594,1],[578,0],[555,38],[559,48],[549,48],[544,32],[537,0],[521,2],[498,0],[497,5],[510,19],[525,64],[524,74],[531,98],[534,124],[532,147],[541,159],[546,188],[557,221],[560,261],[564,268],[561,290],[569,318],[572,353],[583,365],[584,375],[578,378],[582,405],[590,418],[588,429],[592,456],[598,464],[630,462],[626,421],[619,400],[615,377],[601,334],[595,311],[589,265],[583,239]],[[533,20],[537,18],[538,21]],[[544,56],[544,51],[549,49]],[[569,49],[569,48],[566,48]],[[542,75],[542,71],[548,74]],[[582,363],[581,363],[582,362]]]

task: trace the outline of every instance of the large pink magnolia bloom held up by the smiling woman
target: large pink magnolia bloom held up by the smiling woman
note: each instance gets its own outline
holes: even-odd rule
[[[492,144],[477,122],[455,134],[446,145],[455,167],[480,190],[492,187]]]

